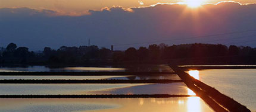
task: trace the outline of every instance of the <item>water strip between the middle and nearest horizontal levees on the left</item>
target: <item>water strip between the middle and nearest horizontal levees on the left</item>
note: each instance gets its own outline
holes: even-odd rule
[[[188,94],[183,82],[173,84],[0,84],[2,95],[47,94]]]

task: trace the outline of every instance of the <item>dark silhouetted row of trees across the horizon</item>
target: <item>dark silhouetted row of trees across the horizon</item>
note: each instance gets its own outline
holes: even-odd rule
[[[31,65],[92,65],[92,64],[255,64],[256,48],[249,46],[229,47],[223,44],[150,44],[148,47],[129,47],[124,51],[111,51],[98,46],[45,47],[42,53],[29,51],[10,43],[0,47],[1,64]]]

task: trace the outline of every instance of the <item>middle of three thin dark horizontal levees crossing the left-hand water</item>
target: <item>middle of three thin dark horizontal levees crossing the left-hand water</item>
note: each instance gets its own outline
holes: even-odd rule
[[[85,80],[63,80],[63,79],[4,79],[0,84],[170,84],[182,82],[182,80],[171,79],[142,79],[142,80],[123,80],[123,79],[85,79]]]

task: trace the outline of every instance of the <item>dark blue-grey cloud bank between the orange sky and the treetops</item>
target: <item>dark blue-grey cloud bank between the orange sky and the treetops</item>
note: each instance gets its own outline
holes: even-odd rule
[[[256,30],[256,5],[221,3],[189,9],[186,5],[156,5],[155,7],[121,7],[89,11],[79,17],[60,16],[51,10],[30,8],[0,9],[0,46],[14,42],[30,50],[45,46],[92,44],[110,47],[111,44],[143,43],[222,43],[256,47],[256,31],[215,37],[196,37],[233,31]],[[255,36],[254,36],[255,35]],[[194,39],[183,39],[193,37]],[[247,37],[249,36],[249,37]],[[176,39],[176,40],[175,40]],[[251,41],[251,42],[248,42]],[[130,46],[147,46],[135,44]],[[130,46],[116,46],[123,50]]]

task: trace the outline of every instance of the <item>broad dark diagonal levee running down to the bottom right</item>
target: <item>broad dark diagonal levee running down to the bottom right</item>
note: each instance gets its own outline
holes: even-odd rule
[[[182,71],[177,66],[170,66],[177,75],[192,89],[199,97],[202,98],[215,111],[250,111],[244,105],[238,103],[227,95],[221,94],[217,89],[204,84],[201,81]]]

